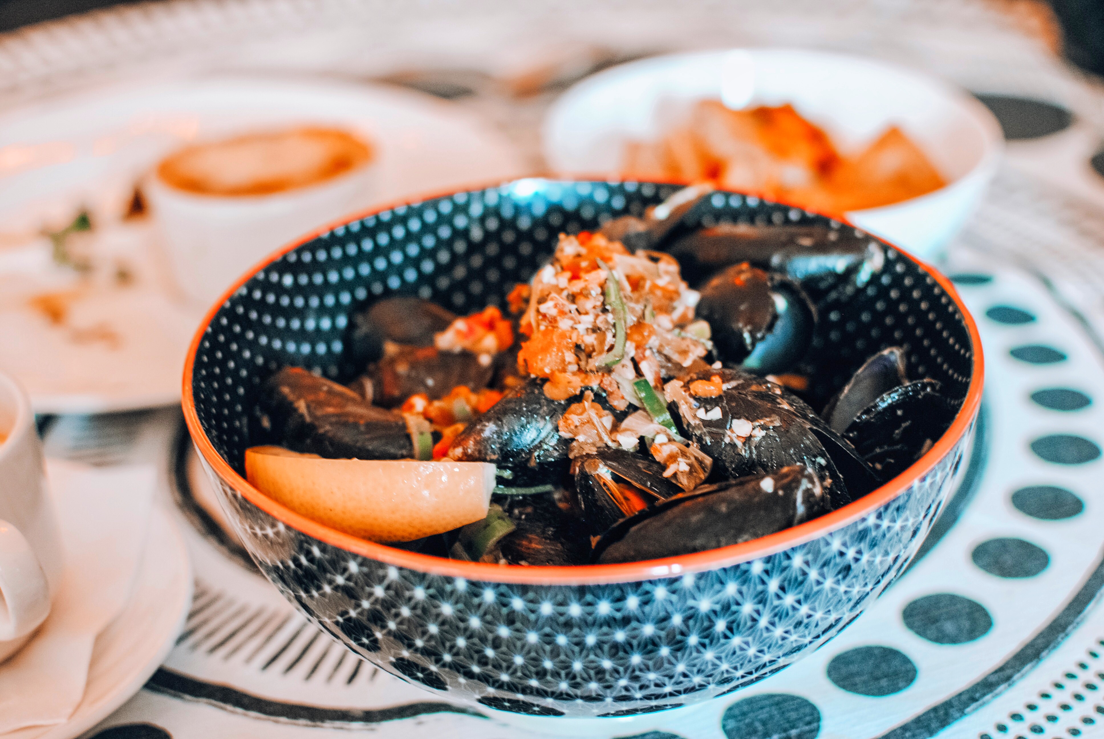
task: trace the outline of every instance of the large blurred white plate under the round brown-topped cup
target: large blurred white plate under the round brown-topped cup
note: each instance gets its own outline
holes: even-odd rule
[[[151,162],[198,136],[307,122],[357,129],[379,145],[380,203],[526,173],[511,145],[470,114],[382,86],[268,78],[150,82],[0,117],[0,368],[23,382],[35,411],[107,412],[177,402],[200,315],[169,286],[145,219],[113,224],[93,245],[129,260],[134,285],[95,289],[74,304],[73,326],[51,325],[28,307],[28,297],[72,279],[50,266],[42,245],[12,246],[13,234],[63,223],[82,204],[94,218],[118,212]],[[98,330],[104,328],[108,339]],[[79,329],[84,341],[74,338]]]

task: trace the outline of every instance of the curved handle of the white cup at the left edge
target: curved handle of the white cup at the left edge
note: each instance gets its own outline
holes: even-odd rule
[[[25,636],[50,613],[50,584],[31,545],[0,519],[0,642]]]

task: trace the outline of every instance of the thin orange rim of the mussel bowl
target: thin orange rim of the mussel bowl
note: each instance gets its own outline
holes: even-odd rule
[[[981,403],[981,386],[985,377],[985,359],[981,353],[981,337],[978,334],[977,325],[974,323],[974,318],[970,316],[969,312],[963,305],[962,298],[958,297],[957,291],[951,284],[951,281],[942,275],[938,271],[933,268],[927,263],[922,260],[916,258],[912,254],[904,252],[898,247],[896,251],[902,254],[905,258],[914,262],[920,266],[925,273],[931,275],[933,279],[942,287],[946,294],[954,300],[955,306],[962,314],[963,321],[966,325],[966,329],[969,332],[972,351],[973,351],[973,372],[970,376],[969,389],[966,393],[966,399],[963,401],[962,408],[958,410],[958,414],[955,416],[954,422],[951,427],[947,429],[946,433],[940,437],[940,440],[927,451],[926,454],[921,456],[916,462],[914,462],[903,473],[885,483],[881,487],[875,488],[873,492],[863,496],[862,498],[850,503],[842,508],[834,510],[826,514],[819,518],[815,518],[805,524],[794,526],[776,534],[771,534],[758,539],[753,539],[751,541],[745,541],[743,543],[731,545],[728,547],[721,547],[720,549],[709,549],[705,551],[694,552],[691,555],[680,555],[677,557],[668,557],[664,559],[654,559],[639,562],[625,562],[622,564],[576,564],[567,567],[524,567],[521,564],[493,564],[488,562],[466,562],[455,559],[444,559],[440,557],[434,557],[432,555],[422,555],[418,552],[406,551],[404,549],[396,549],[394,547],[389,547],[386,545],[378,543],[375,541],[369,541],[367,539],[361,539],[354,537],[350,534],[339,531],[338,529],[331,528],[323,524],[314,521],[301,514],[284,506],[273,498],[268,497],[259,489],[251,485],[245,478],[238,475],[230,464],[222,458],[222,456],[215,451],[211,441],[208,439],[206,433],[204,433],[202,426],[200,425],[199,416],[195,412],[195,399],[192,393],[192,373],[195,367],[195,355],[199,350],[200,344],[203,341],[204,335],[211,326],[211,321],[214,319],[215,314],[222,309],[223,305],[234,296],[234,294],[250,279],[256,275],[262,268],[268,266],[270,263],[275,262],[277,258],[284,254],[298,249],[302,244],[312,241],[323,233],[328,233],[333,229],[351,223],[352,221],[358,221],[369,215],[375,215],[383,211],[393,210],[401,205],[415,205],[428,200],[434,200],[437,198],[448,197],[457,192],[474,192],[478,190],[488,189],[491,187],[505,187],[512,184],[523,179],[529,178],[518,178],[513,180],[507,180],[506,182],[498,181],[489,184],[482,184],[477,187],[471,187],[468,189],[449,189],[447,192],[440,192],[435,194],[429,194],[423,198],[415,199],[402,199],[385,205],[380,205],[371,208],[360,213],[348,215],[338,221],[333,221],[330,224],[311,232],[310,234],[297,239],[287,246],[284,246],[276,252],[272,253],[258,264],[256,264],[252,270],[250,270],[243,277],[233,284],[219,299],[217,303],[211,307],[203,318],[203,323],[200,325],[199,329],[195,331],[195,336],[192,338],[191,346],[188,350],[188,358],[184,362],[183,372],[183,389],[182,389],[182,405],[184,412],[184,422],[188,425],[188,431],[191,434],[192,442],[195,444],[195,448],[200,453],[203,461],[211,467],[212,471],[230,487],[232,487],[238,495],[252,503],[254,506],[265,511],[273,518],[284,522],[285,525],[294,528],[295,530],[309,536],[319,541],[323,541],[330,546],[337,547],[338,549],[359,555],[367,559],[376,560],[385,564],[392,564],[395,567],[403,567],[410,570],[415,570],[418,572],[426,572],[429,574],[437,574],[444,577],[464,578],[466,580],[475,580],[482,582],[501,582],[501,583],[518,583],[518,584],[533,584],[533,585],[586,585],[586,584],[603,584],[603,583],[615,583],[615,582],[633,582],[640,580],[650,580],[655,578],[670,578],[679,577],[682,574],[689,574],[693,572],[702,572],[707,570],[714,570],[724,567],[732,567],[734,564],[741,564],[754,559],[760,559],[762,557],[767,557],[776,552],[796,547],[813,539],[817,539],[826,534],[835,531],[837,529],[843,528],[849,524],[852,524],[866,516],[869,516],[873,511],[881,508],[887,503],[893,500],[899,495],[902,495],[915,482],[921,479],[924,475],[930,473],[951,451],[956,444],[966,435],[967,431],[973,424],[974,419],[977,416],[978,409]],[[573,177],[571,179],[552,179],[552,178],[532,178],[532,179],[546,179],[550,182],[575,182],[575,181],[591,181],[591,182],[607,182],[609,184],[618,184],[624,181],[637,181],[637,180],[619,180],[611,179],[608,176],[598,176],[591,180],[584,180],[578,177]],[[686,182],[676,181],[662,181],[662,180],[648,180],[647,182],[654,184],[687,184]],[[641,182],[645,183],[645,182]],[[736,193],[744,194],[744,193]],[[799,205],[794,205],[792,203],[785,203],[777,200],[771,200],[762,198],[761,196],[755,196],[749,193],[750,197],[756,197],[767,202],[777,202],[783,205],[789,205],[793,208],[800,208]],[[745,196],[745,197],[749,197]],[[805,209],[802,209],[805,210]],[[828,215],[828,218],[841,221],[847,225],[853,226],[846,219],[839,215]],[[881,240],[884,241],[884,240]],[[889,243],[889,242],[885,242]],[[892,246],[892,244],[890,244]]]

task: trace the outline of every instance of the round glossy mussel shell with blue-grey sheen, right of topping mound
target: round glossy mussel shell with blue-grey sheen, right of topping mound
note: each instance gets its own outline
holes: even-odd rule
[[[746,263],[702,286],[696,315],[709,321],[722,360],[763,374],[794,367],[816,328],[816,310],[797,284]]]

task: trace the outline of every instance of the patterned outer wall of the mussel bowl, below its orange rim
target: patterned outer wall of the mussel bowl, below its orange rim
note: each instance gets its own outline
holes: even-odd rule
[[[601,585],[476,582],[364,559],[211,476],[265,577],[362,657],[490,708],[625,716],[750,685],[839,633],[924,540],[966,442],[825,537],[719,570]]]

